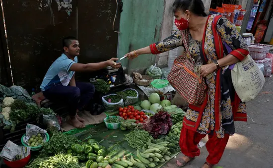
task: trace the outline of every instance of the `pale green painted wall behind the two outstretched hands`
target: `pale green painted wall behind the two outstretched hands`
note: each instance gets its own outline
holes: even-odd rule
[[[118,57],[160,40],[164,8],[165,0],[123,0]],[[121,62],[130,73],[147,68],[155,63],[155,59],[153,55],[141,55]]]

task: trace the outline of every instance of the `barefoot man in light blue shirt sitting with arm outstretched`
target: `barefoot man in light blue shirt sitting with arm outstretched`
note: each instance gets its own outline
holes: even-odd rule
[[[79,42],[74,37],[63,39],[64,53],[48,69],[41,90],[44,96],[55,103],[66,104],[69,108],[69,123],[82,128],[84,119],[77,112],[84,110],[92,99],[95,88],[91,83],[75,82],[75,72],[96,71],[107,66],[119,68],[118,58],[98,63],[78,63]]]

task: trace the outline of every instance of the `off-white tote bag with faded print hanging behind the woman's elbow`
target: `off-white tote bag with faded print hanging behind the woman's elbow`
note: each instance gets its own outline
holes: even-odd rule
[[[242,102],[254,100],[260,93],[265,77],[250,55],[237,62],[231,70],[232,83]]]

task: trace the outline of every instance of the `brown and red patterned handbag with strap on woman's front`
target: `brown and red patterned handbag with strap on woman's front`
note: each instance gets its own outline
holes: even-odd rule
[[[195,61],[190,57],[188,35],[185,31],[182,31],[182,38],[186,51],[183,56],[174,60],[168,81],[189,104],[201,105],[205,101],[207,92],[205,80],[195,73]]]

